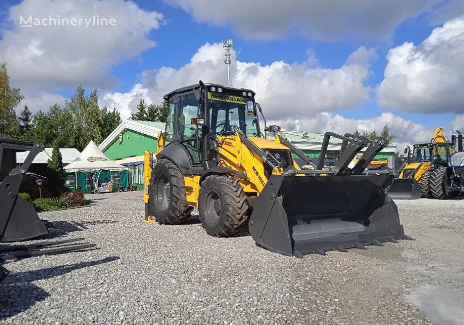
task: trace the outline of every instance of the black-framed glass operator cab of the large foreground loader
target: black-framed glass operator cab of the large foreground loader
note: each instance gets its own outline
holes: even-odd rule
[[[262,136],[254,95],[250,89],[203,82],[166,94],[164,100],[169,113],[165,146],[174,142],[182,144],[192,164],[196,165],[205,160],[215,160],[217,136],[236,132],[252,137]]]

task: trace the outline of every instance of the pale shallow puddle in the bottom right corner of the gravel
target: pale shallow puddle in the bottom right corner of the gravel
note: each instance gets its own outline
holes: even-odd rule
[[[464,324],[464,292],[424,285],[406,298],[427,315],[433,324]]]

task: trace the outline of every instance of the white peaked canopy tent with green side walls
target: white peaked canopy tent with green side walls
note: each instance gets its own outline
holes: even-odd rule
[[[128,168],[109,159],[93,141],[64,170],[68,173],[66,185],[80,186],[84,192],[112,192],[117,187],[128,187]]]

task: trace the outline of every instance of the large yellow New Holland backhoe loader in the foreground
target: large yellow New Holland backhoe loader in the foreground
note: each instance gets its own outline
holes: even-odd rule
[[[265,125],[254,95],[200,81],[164,96],[170,115],[156,162],[146,154],[147,220],[180,224],[197,207],[208,234],[228,237],[248,224],[257,245],[294,256],[408,238],[385,190],[395,175],[365,170],[386,139],[327,132],[315,165],[280,127]],[[323,169],[331,137],[343,141],[340,156]],[[301,169],[292,156],[313,169]]]

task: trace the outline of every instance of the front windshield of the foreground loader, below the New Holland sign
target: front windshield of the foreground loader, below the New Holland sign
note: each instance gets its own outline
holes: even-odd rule
[[[248,115],[246,103],[212,100],[211,133],[230,134],[235,128],[247,136],[258,136],[259,127],[255,113]]]

